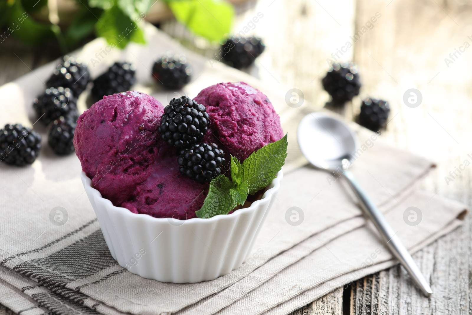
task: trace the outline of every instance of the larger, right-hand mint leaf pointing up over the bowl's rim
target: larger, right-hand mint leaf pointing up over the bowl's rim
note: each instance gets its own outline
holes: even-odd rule
[[[287,134],[249,155],[242,165],[242,181],[253,195],[269,185],[277,176],[287,157]]]

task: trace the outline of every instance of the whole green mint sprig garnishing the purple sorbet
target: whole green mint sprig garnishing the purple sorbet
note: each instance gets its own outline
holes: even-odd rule
[[[225,175],[211,180],[202,208],[195,214],[199,218],[211,218],[218,214],[228,214],[237,205],[244,204],[249,194],[255,194],[277,177],[286,157],[287,134],[253,152],[243,164],[231,156],[231,180]]]

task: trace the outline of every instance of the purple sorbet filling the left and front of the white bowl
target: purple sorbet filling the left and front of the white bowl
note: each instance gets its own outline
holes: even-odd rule
[[[76,154],[93,186],[114,205],[157,218],[192,218],[208,185],[179,173],[175,149],[157,131],[163,111],[147,94],[105,96],[79,117]]]

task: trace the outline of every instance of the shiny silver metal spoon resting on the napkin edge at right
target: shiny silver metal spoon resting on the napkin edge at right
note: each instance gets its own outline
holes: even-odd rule
[[[342,174],[359,199],[364,213],[371,219],[392,254],[405,267],[425,296],[432,294],[429,283],[380,210],[372,203],[349,170],[357,151],[357,137],[342,121],[322,113],[303,117],[298,126],[298,144],[303,155],[315,167]]]

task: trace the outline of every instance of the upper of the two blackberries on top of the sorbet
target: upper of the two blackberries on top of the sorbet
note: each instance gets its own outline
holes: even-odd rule
[[[158,128],[163,140],[176,148],[199,143],[207,132],[205,106],[186,96],[173,98],[164,109]]]

